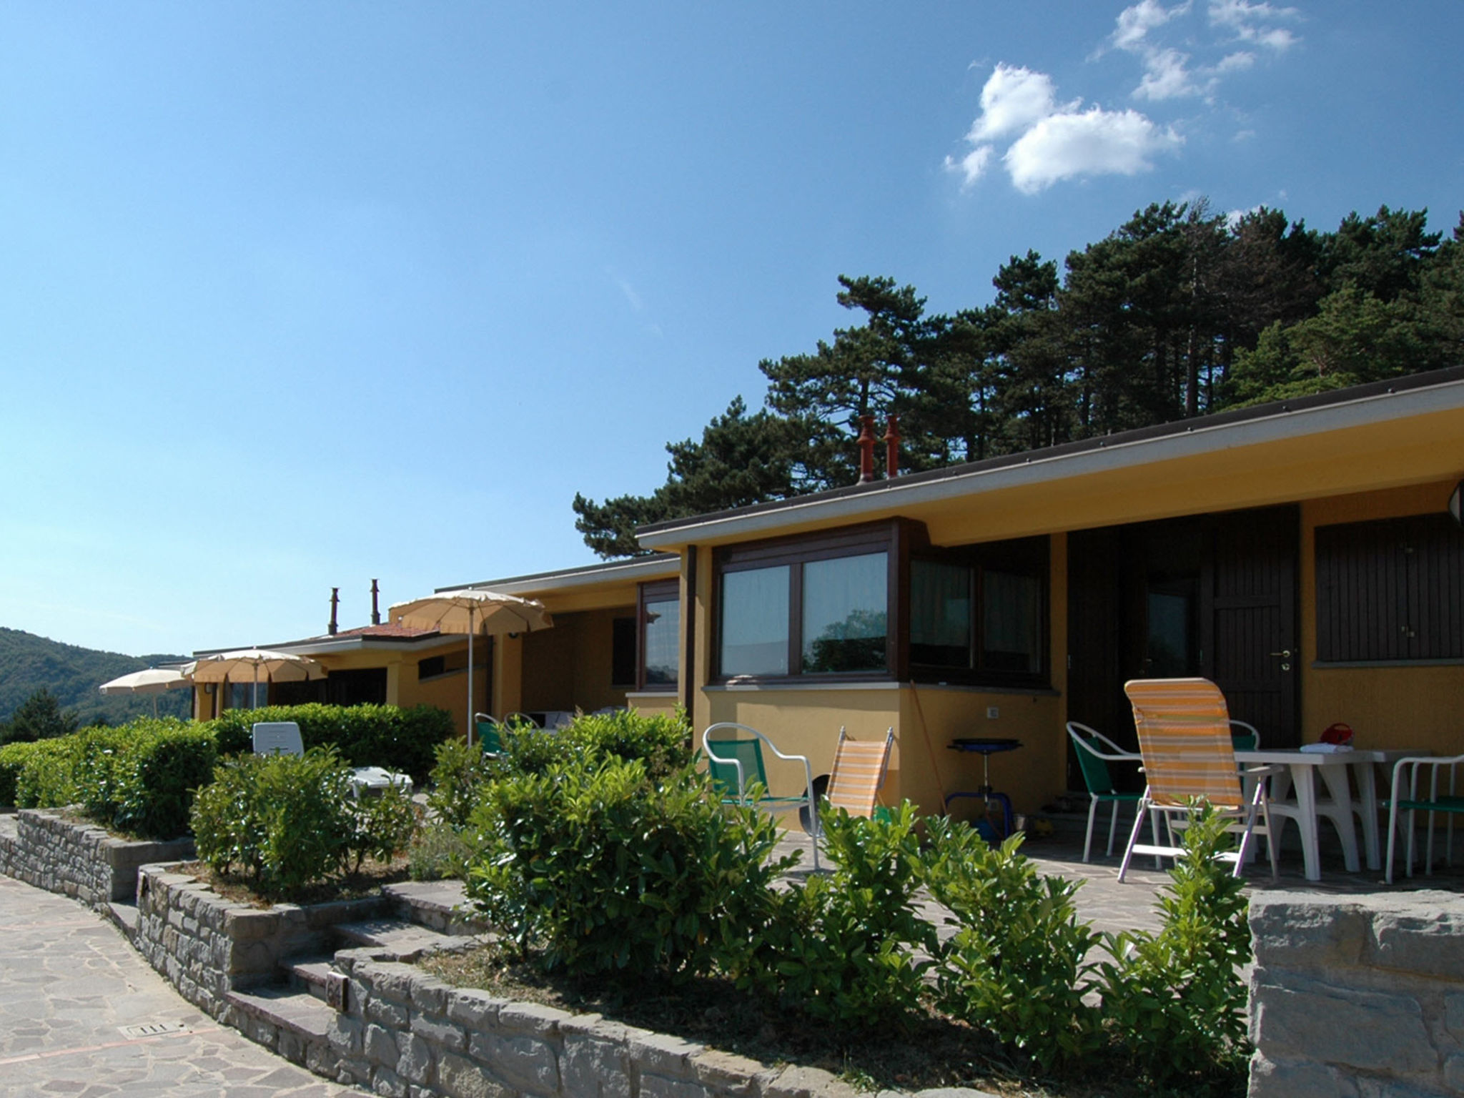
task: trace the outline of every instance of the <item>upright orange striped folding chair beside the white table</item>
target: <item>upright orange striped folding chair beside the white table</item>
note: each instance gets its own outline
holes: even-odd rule
[[[1209,679],[1132,679],[1123,684],[1123,692],[1133,706],[1148,786],[1139,801],[1129,846],[1123,852],[1118,880],[1124,878],[1129,861],[1136,854],[1164,858],[1184,854],[1184,848],[1174,840],[1174,832],[1189,823],[1196,799],[1209,802],[1234,820],[1231,830],[1240,833],[1240,849],[1222,855],[1234,859],[1234,875],[1240,875],[1252,834],[1259,833],[1266,836],[1274,878],[1277,855],[1275,843],[1271,842],[1271,808],[1263,779],[1278,773],[1281,767],[1252,767],[1244,774],[1240,773],[1230,738],[1230,712],[1220,687]],[[1139,842],[1143,817],[1151,811],[1167,817],[1168,846],[1158,840],[1152,845]]]

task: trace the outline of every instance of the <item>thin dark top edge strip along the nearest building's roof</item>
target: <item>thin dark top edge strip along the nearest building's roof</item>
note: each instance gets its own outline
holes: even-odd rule
[[[1464,381],[1464,366],[1446,366],[1441,370],[1410,373],[1403,378],[1391,378],[1388,381],[1376,381],[1366,385],[1353,385],[1345,389],[1332,389],[1331,392],[1316,392],[1309,397],[1296,397],[1293,400],[1272,401],[1269,404],[1256,404],[1249,408],[1234,408],[1231,411],[1217,411],[1212,416],[1196,416],[1195,419],[1157,423],[1148,427],[1121,430],[1116,435],[1099,435],[1095,438],[1080,439],[1078,442],[1061,442],[1056,447],[1025,449],[1017,454],[1003,454],[1001,457],[985,458],[982,461],[968,461],[960,466],[930,468],[922,473],[899,476],[893,480],[874,480],[868,485],[848,485],[845,488],[832,488],[826,492],[811,492],[808,495],[789,496],[788,499],[773,499],[764,504],[748,504],[747,507],[729,508],[726,511],[709,511],[707,514],[688,515],[687,518],[668,518],[660,523],[647,523],[646,526],[635,527],[635,536],[640,537],[641,534],[659,534],[679,530],[682,527],[703,526],[723,518],[731,518],[733,515],[766,514],[769,511],[782,511],[785,508],[795,507],[802,508],[810,504],[820,504],[849,496],[874,495],[899,488],[914,488],[915,485],[952,480],[955,477],[971,476],[972,473],[990,473],[998,468],[1010,468],[1013,466],[1072,457],[1076,454],[1088,454],[1107,447],[1120,447],[1132,442],[1148,442],[1174,435],[1184,435],[1199,429],[1224,427],[1231,423],[1249,423],[1272,417],[1280,419],[1296,411],[1306,411],[1309,408],[1350,404],[1354,401],[1373,400],[1391,392],[1407,392],[1411,389],[1423,389],[1433,385],[1445,385],[1448,382],[1460,381]]]

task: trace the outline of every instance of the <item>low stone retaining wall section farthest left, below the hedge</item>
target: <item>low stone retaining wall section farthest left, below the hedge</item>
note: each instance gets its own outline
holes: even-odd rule
[[[0,833],[0,873],[94,908],[130,902],[139,865],[193,856],[192,839],[119,839],[105,827],[67,820],[54,808],[22,808],[13,823],[13,834],[9,827]]]

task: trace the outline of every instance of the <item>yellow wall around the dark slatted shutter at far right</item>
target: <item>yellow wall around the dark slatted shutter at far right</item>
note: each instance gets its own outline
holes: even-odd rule
[[[1316,666],[1316,555],[1319,526],[1438,514],[1457,479],[1388,492],[1360,492],[1301,505],[1301,739],[1328,725],[1353,726],[1357,744],[1464,752],[1464,665]]]

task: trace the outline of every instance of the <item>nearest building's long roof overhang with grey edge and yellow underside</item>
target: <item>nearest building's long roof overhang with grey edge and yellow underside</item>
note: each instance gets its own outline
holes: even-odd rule
[[[1345,394],[1345,395],[1341,395]],[[877,521],[937,545],[1297,502],[1464,474],[1464,369],[641,527],[647,549]],[[1442,509],[1445,501],[1439,501]]]

